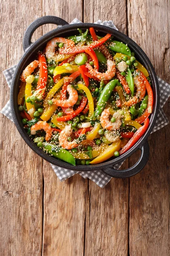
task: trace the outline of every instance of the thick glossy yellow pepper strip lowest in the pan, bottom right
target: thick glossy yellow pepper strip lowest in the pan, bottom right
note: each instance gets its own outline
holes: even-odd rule
[[[90,164],[102,163],[105,160],[108,160],[110,157],[113,157],[115,151],[119,151],[121,148],[121,140],[117,140],[109,145],[98,157],[90,162]]]

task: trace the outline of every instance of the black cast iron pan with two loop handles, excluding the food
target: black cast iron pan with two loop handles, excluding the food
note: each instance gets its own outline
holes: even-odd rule
[[[31,43],[31,37],[34,33],[34,31],[43,24],[47,23],[53,23],[57,24],[58,28],[54,29],[47,34],[43,35],[41,38],[39,38],[34,43]],[[61,27],[62,26],[62,27]],[[75,35],[77,34],[77,28],[81,29],[88,29],[89,27],[93,26],[95,30],[98,31],[98,35],[104,36],[106,33],[110,33],[114,36],[114,38],[118,41],[121,41],[125,44],[128,44],[128,47],[135,52],[136,58],[146,67],[152,85],[153,85],[153,97],[154,97],[154,104],[153,104],[153,113],[150,115],[150,125],[146,131],[146,133],[142,136],[142,138],[132,147],[130,150],[128,150],[125,154],[122,154],[118,158],[113,158],[105,161],[104,163],[91,165],[91,166],[72,166],[69,163],[62,162],[61,160],[57,160],[54,157],[51,157],[50,155],[46,154],[42,149],[38,148],[37,145],[30,139],[28,134],[26,133],[25,129],[23,128],[23,123],[20,118],[20,113],[18,111],[18,104],[17,104],[17,95],[19,93],[19,86],[20,86],[20,75],[22,71],[25,69],[25,67],[35,59],[35,56],[39,50],[43,50],[45,48],[45,45],[49,40],[51,40],[54,37],[66,37],[69,35]],[[19,63],[17,64],[14,77],[11,84],[11,91],[10,91],[10,102],[11,102],[11,111],[14,118],[15,125],[17,126],[18,131],[20,132],[23,139],[26,141],[26,143],[41,157],[43,157],[45,160],[47,160],[49,163],[52,163],[54,165],[71,169],[75,171],[95,171],[95,170],[102,170],[103,172],[107,173],[111,177],[119,177],[119,178],[125,178],[130,177],[132,175],[135,175],[138,173],[142,168],[144,168],[145,164],[147,163],[147,160],[149,158],[149,145],[147,143],[147,137],[149,136],[150,132],[153,129],[153,126],[156,122],[156,117],[159,111],[159,85],[158,80],[156,77],[155,70],[153,69],[152,64],[150,63],[150,60],[147,58],[147,55],[143,52],[143,50],[129,37],[122,34],[121,32],[112,29],[107,26],[102,26],[94,23],[78,23],[78,24],[72,24],[69,25],[65,20],[62,20],[59,17],[55,16],[45,16],[40,17],[37,20],[35,20],[33,23],[31,23],[24,35],[23,38],[23,49],[25,51],[23,57],[20,59]],[[137,149],[140,149],[142,151],[142,154],[138,160],[138,162],[131,168],[119,171],[114,169],[114,165],[116,163],[121,162],[122,160],[125,160],[127,157],[130,157],[131,154],[133,154]]]

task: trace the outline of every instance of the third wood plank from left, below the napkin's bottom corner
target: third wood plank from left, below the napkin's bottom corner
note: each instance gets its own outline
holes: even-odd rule
[[[85,0],[84,12],[85,22],[113,20],[126,33],[126,1]],[[128,161],[123,167],[128,168]],[[112,179],[104,189],[89,180],[89,200],[85,255],[127,255],[128,179]]]

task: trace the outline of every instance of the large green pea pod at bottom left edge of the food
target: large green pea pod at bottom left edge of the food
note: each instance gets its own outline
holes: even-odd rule
[[[59,158],[60,160],[63,160],[67,163],[71,163],[74,166],[76,165],[74,156],[67,150],[63,148],[59,148],[55,150],[54,145],[47,144],[47,143],[45,143],[44,148],[48,154],[52,154],[54,157]]]

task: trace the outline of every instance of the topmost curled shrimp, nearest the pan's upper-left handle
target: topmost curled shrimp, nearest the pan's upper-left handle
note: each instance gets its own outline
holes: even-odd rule
[[[53,38],[46,45],[46,48],[45,48],[46,58],[54,57],[54,55],[55,55],[55,48],[57,47],[56,43],[64,43],[64,44],[69,45],[69,46],[73,46],[74,45],[74,41],[72,41],[70,39]]]

